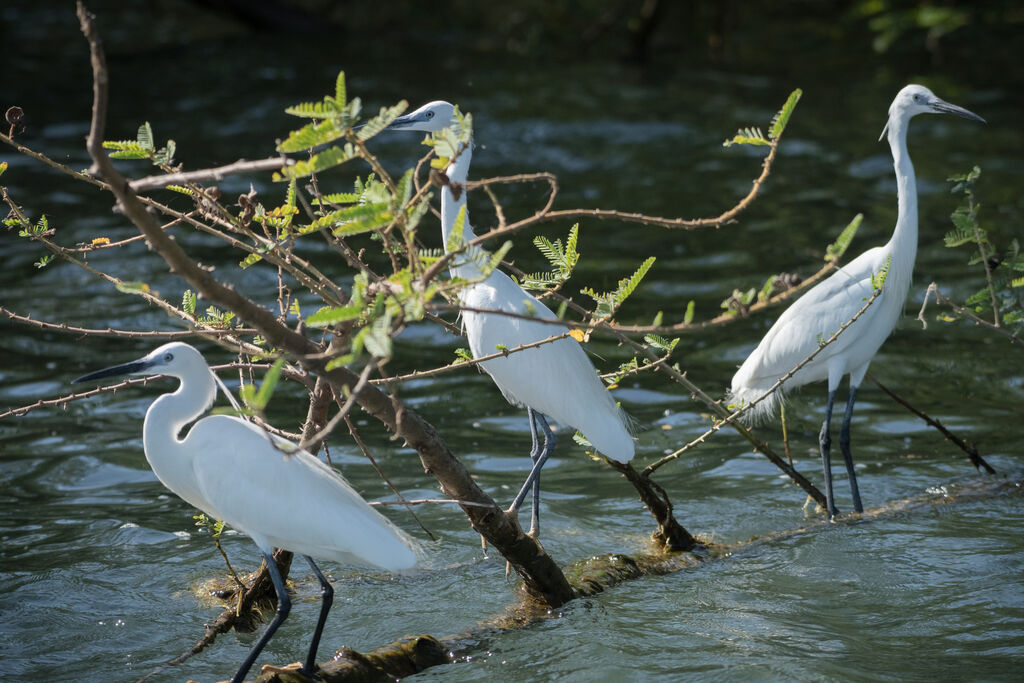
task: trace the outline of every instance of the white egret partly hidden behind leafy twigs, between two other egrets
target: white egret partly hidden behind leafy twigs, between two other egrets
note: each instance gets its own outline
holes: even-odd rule
[[[433,101],[395,119],[389,128],[436,133],[455,125],[459,125],[455,108],[445,101]],[[476,237],[469,225],[468,215],[465,215],[461,239],[455,244],[451,240],[460,212],[466,211],[464,184],[469,176],[472,146],[470,140],[444,172],[447,183],[441,189],[441,240],[446,250],[460,248]],[[459,292],[460,300],[467,308],[557,319],[551,309],[504,272],[495,269],[484,278],[478,259],[474,259],[472,253],[456,257],[450,270],[453,276],[470,283]],[[474,358],[492,354],[501,347],[515,348],[568,332],[561,325],[475,310],[463,311],[462,319]],[[514,514],[519,510],[532,486],[534,509],[529,532],[536,537],[541,468],[554,451],[556,440],[548,427],[547,418],[579,430],[595,449],[609,458],[629,462],[633,459],[635,446],[627,418],[605,389],[594,364],[571,337],[484,360],[480,365],[510,403],[526,408],[532,441],[529,457],[534,467],[509,511]],[[543,444],[539,433],[544,437]]]

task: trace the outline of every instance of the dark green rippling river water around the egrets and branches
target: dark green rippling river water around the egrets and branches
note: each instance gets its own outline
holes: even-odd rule
[[[37,28],[36,31],[43,29]],[[72,38],[74,34],[70,34]],[[682,315],[695,299],[710,317],[733,288],[760,285],[771,273],[816,269],[824,246],[857,212],[865,220],[859,252],[888,239],[895,220],[895,182],[887,145],[877,142],[886,109],[909,80],[925,78],[942,97],[978,112],[987,126],[920,117],[910,152],[921,200],[921,250],[908,311],[871,372],[964,437],[978,443],[1004,475],[1019,478],[1024,429],[1021,351],[981,330],[912,322],[928,283],[963,297],[979,287],[963,253],[941,246],[955,201],[944,178],[978,164],[983,216],[996,239],[1020,233],[1024,179],[1019,84],[978,87],[965,70],[880,70],[841,83],[785,78],[765,68],[717,71],[681,67],[640,74],[612,63],[521,69],[514,60],[377,57],[346,59],[317,44],[271,49],[255,42],[200,43],[183,54],[156,50],[112,58],[110,137],[130,137],[148,120],[159,138],[173,137],[189,167],[269,154],[294,123],[285,105],[321,96],[339,68],[349,91],[368,106],[406,97],[416,104],[445,97],[475,116],[479,146],[473,175],[548,170],[558,174],[559,206],[636,210],[663,215],[716,214],[745,193],[759,156],[723,150],[737,127],[766,125],[794,87],[805,98],[791,124],[777,170],[740,222],[717,231],[683,233],[656,227],[584,222],[583,262],[574,281],[607,288],[645,256],[657,263],[624,309],[623,322],[648,322],[656,310]],[[288,56],[285,54],[288,53]],[[230,55],[230,58],[229,56]],[[38,55],[36,55],[38,56]],[[85,166],[89,86],[84,48],[69,43],[39,69],[33,55],[10,69],[5,94],[32,117],[24,140]],[[171,60],[177,59],[171,68]],[[36,70],[36,71],[34,71]],[[772,74],[766,76],[765,73]],[[959,74],[959,76],[957,76]],[[807,78],[807,77],[805,77]],[[1019,77],[1018,77],[1019,78]],[[9,90],[8,90],[9,87]],[[9,103],[9,102],[4,102]],[[419,154],[413,138],[375,144],[384,162],[403,168]],[[34,215],[45,211],[65,244],[134,233],[110,212],[105,197],[76,186],[40,165],[0,153],[2,178]],[[141,172],[141,171],[140,171]],[[360,171],[364,172],[364,171]],[[339,178],[339,186],[350,182]],[[248,180],[225,182],[244,190]],[[260,185],[269,197],[280,188]],[[536,196],[509,194],[508,210],[525,213]],[[482,200],[472,206],[486,225]],[[550,236],[564,225],[546,226]],[[267,303],[274,280],[242,273],[237,256],[204,238],[178,239],[218,274]],[[541,266],[528,236],[513,256]],[[74,266],[37,270],[40,250],[4,234],[0,301],[20,313],[88,327],[166,329],[166,318],[119,295]],[[96,254],[91,262],[126,280],[142,280],[171,299],[183,286],[144,248]],[[327,266],[338,276],[344,269]],[[679,359],[689,376],[721,395],[735,367],[778,311],[713,334],[685,337]],[[930,316],[931,317],[931,316]],[[410,330],[393,371],[446,361],[460,344],[430,327]],[[0,324],[0,409],[54,397],[95,368],[130,359],[148,345],[78,339]],[[211,360],[225,360],[206,345]],[[598,340],[599,365],[624,358]],[[164,387],[166,388],[166,387]],[[141,419],[159,389],[133,389],[36,411],[0,422],[0,675],[28,680],[134,680],[191,645],[219,611],[193,591],[223,563],[209,538],[196,532],[194,511],[166,492],[146,467]],[[297,392],[294,394],[299,395]],[[485,376],[446,375],[411,383],[402,397],[442,432],[453,450],[499,500],[525,475],[525,416],[508,407]],[[644,378],[616,396],[640,425],[645,463],[695,436],[700,409],[678,387]],[[283,395],[278,422],[294,429],[304,415]],[[791,403],[794,458],[820,481],[816,433],[823,387]],[[392,480],[410,497],[431,497],[410,451],[395,447],[377,425],[364,435]],[[865,384],[854,417],[858,477],[865,504],[877,506],[928,492],[983,481],[958,452]],[[762,434],[778,441],[777,427]],[[335,463],[368,499],[388,498],[371,467],[347,440],[332,443]],[[837,476],[839,476],[837,474]],[[664,468],[680,520],[718,541],[801,525],[803,496],[738,437],[722,434]],[[839,478],[839,504],[849,507]],[[544,477],[545,547],[568,563],[591,554],[635,552],[651,530],[632,489],[587,459],[564,434]],[[481,642],[468,660],[421,675],[455,680],[885,679],[1019,678],[1024,657],[1024,504],[1019,495],[935,507],[882,521],[838,526],[737,554],[702,568],[652,578],[579,601],[534,627]],[[410,633],[444,635],[471,628],[512,600],[504,562],[483,557],[464,516],[451,507],[419,510],[440,537],[427,544],[425,567],[391,578],[327,566],[337,600],[322,656],[349,645],[368,649]],[[396,521],[417,533],[407,516]],[[420,532],[422,538],[422,532]],[[255,547],[240,536],[225,545],[243,567]],[[296,607],[261,661],[292,661],[304,651],[317,605],[314,584],[295,577]],[[229,676],[254,636],[229,634],[182,667],[153,680]]]

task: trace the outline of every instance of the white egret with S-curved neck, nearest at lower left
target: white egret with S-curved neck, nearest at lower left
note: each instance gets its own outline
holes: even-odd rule
[[[148,355],[80,377],[87,382],[115,375],[168,375],[180,381],[145,413],[145,458],[165,486],[213,518],[249,535],[263,557],[278,610],[266,633],[234,674],[242,681],[263,646],[288,617],[291,602],[271,556],[273,548],[304,555],[321,583],[322,605],[302,672],[312,676],[316,647],[334,598],[312,556],[366,563],[389,570],[416,563],[414,542],[374,510],[338,472],[305,451],[251,422],[212,415],[178,434],[216,397],[216,378],[188,344],[165,344]]]

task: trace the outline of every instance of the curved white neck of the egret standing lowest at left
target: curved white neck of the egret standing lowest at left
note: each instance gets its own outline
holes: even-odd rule
[[[209,410],[217,395],[213,373],[205,366],[202,370],[205,372],[182,380],[177,391],[157,398],[142,425],[142,445],[153,471],[164,485],[193,505],[197,503],[191,461],[202,454],[189,453],[178,435],[185,425]]]

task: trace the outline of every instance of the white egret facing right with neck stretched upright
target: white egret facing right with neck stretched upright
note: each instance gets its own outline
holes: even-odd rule
[[[872,275],[888,267],[882,292],[874,303],[783,385],[792,388],[828,380],[828,402],[818,442],[829,517],[836,514],[828,453],[831,445],[829,423],[836,389],[846,374],[850,375],[850,398],[843,416],[839,443],[850,478],[853,507],[857,512],[863,512],[850,454],[850,418],[857,387],[864,379],[874,353],[896,326],[910,287],[918,251],[918,188],[913,165],[906,151],[906,131],[910,119],[918,114],[955,114],[984,123],[978,115],[939,99],[923,86],[908,85],[899,91],[889,106],[889,122],[882,131],[883,136],[888,131],[896,169],[898,214],[892,239],[886,245],[869,249],[853,259],[790,306],[732,378],[730,402],[745,404],[763,396],[779,377],[809,356],[818,347],[820,339],[830,337],[863,307],[873,292]],[[755,408],[752,418],[757,420],[771,415],[780,400],[779,392],[775,392]]]

